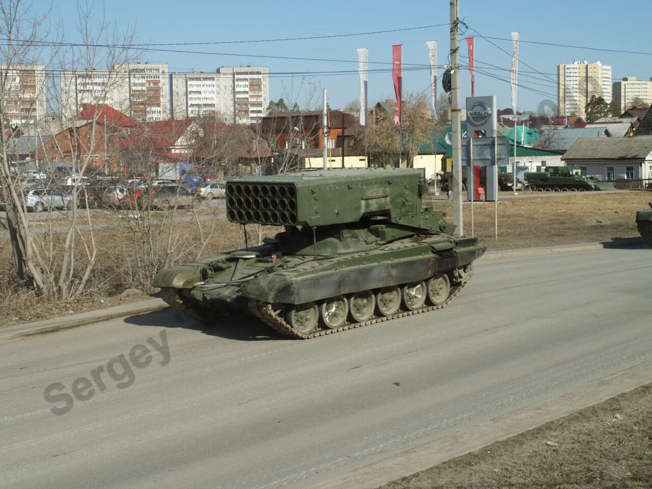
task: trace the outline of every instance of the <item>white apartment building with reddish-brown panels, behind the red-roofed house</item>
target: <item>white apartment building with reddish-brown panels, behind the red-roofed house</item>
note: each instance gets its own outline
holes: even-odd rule
[[[61,72],[61,111],[68,118],[87,104],[106,104],[135,121],[170,118],[167,63],[125,63],[110,70]]]

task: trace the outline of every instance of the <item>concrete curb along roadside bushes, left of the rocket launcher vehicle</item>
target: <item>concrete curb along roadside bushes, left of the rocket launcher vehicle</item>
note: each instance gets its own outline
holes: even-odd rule
[[[109,319],[123,318],[132,314],[145,314],[154,312],[168,307],[163,299],[149,299],[139,303],[124,304],[122,306],[113,306],[96,311],[83,312],[64,316],[63,318],[44,319],[35,323],[27,323],[17,326],[10,326],[0,329],[0,341],[11,340],[14,338],[26,338],[36,334],[55,333],[65,329],[76,328],[88,324],[108,321]]]

